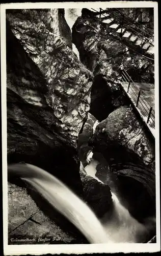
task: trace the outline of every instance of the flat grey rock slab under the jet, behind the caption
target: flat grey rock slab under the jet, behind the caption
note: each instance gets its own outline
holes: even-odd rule
[[[21,200],[19,199],[21,195]],[[73,240],[71,236],[65,233],[56,223],[46,217],[38,208],[31,196],[28,195],[26,188],[22,188],[15,184],[8,184],[8,232],[9,244],[17,244],[11,239],[35,238],[35,244],[38,243],[38,238],[57,237],[61,238],[62,242],[70,242]],[[25,241],[26,244],[34,244],[33,241]],[[20,242],[20,244],[25,244]],[[39,242],[42,243],[42,242]],[[50,241],[45,241],[45,244],[51,244]],[[54,242],[53,242],[54,243]],[[57,243],[57,241],[55,241]]]

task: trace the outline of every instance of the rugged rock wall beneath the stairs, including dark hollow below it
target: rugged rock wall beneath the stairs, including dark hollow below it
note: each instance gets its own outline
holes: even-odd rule
[[[86,10],[86,9],[85,9]],[[119,106],[128,104],[120,86],[123,66],[134,81],[154,82],[154,63],[133,52],[113,35],[106,24],[82,10],[72,28],[72,40],[81,61],[94,74],[90,113],[102,121]],[[97,105],[97,107],[96,107]]]

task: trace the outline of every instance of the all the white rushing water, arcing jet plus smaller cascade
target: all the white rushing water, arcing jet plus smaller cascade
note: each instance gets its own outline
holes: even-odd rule
[[[97,164],[97,161],[92,160],[85,170],[88,175],[101,182],[95,176]],[[98,220],[83,200],[45,170],[31,164],[11,164],[8,166],[8,177],[13,175],[34,187],[53,208],[75,225],[90,243],[139,243],[147,234],[147,228],[130,216],[115,194],[112,196],[112,216],[107,212]]]

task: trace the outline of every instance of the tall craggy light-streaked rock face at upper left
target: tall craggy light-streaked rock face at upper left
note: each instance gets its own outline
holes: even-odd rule
[[[9,51],[14,53],[11,61],[8,58],[8,62],[12,62],[8,66],[14,69],[21,66],[19,77],[12,78],[18,82],[16,93],[26,102],[50,106],[59,133],[74,143],[89,111],[92,74],[68,46],[69,38],[65,37],[68,25],[62,12],[59,9],[8,10],[7,25],[8,55]],[[9,32],[10,28],[12,32]],[[19,54],[20,47],[25,61]],[[30,81],[31,74],[36,73],[31,62],[45,80],[41,85],[37,84],[36,78]],[[13,76],[13,70],[10,72]],[[30,96],[24,96],[24,88]],[[40,91],[45,91],[43,99]]]

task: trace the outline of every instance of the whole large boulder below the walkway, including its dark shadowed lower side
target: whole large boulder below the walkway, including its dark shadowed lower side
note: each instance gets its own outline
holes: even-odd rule
[[[155,216],[154,143],[132,110],[122,106],[112,112],[97,125],[90,145],[106,161],[99,159],[96,176],[110,186],[130,214],[139,221]]]

